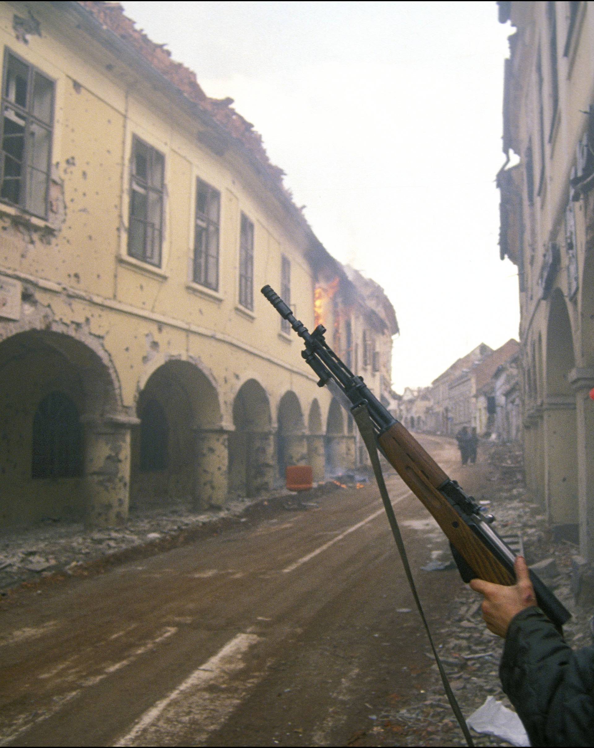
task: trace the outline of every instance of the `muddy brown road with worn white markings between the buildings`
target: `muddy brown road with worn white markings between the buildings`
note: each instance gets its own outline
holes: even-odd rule
[[[387,482],[419,570],[443,536]],[[316,503],[3,603],[0,744],[344,746],[393,691],[422,699],[428,645],[377,488]],[[416,579],[437,625],[459,577]]]

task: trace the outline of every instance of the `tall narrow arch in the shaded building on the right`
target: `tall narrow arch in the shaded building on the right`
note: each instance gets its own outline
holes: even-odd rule
[[[572,325],[563,294],[556,289],[548,308],[545,349],[545,499],[558,533],[577,540],[578,473]]]

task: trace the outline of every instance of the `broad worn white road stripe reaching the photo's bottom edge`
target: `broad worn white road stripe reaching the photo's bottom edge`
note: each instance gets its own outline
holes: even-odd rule
[[[169,696],[158,701],[136,721],[127,735],[115,746],[178,745],[180,726],[191,729],[192,742],[199,745],[214,729],[225,722],[240,704],[248,690],[263,674],[231,685],[229,676],[243,669],[243,654],[260,637],[237,634],[210,660],[196,668]],[[216,686],[213,693],[208,689]]]

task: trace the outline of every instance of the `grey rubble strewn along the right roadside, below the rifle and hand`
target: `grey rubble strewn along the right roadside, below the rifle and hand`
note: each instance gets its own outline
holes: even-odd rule
[[[502,536],[521,537],[528,564],[573,614],[563,627],[566,641],[575,649],[590,646],[594,601],[580,599],[576,603],[571,588],[572,556],[578,553],[578,548],[570,542],[554,540],[546,525],[544,508],[527,496],[521,479],[521,449],[516,445],[482,444],[479,464],[470,470],[480,473],[479,490],[473,487],[473,491],[476,499],[495,515],[497,532]],[[444,543],[440,558],[444,570],[449,568],[445,562],[450,559]],[[416,571],[416,575],[426,573],[443,571]],[[452,583],[448,589],[457,593],[450,604],[451,613],[444,625],[433,625],[432,631],[463,714],[470,717],[489,696],[512,708],[501,690],[498,675],[503,640],[485,627],[482,598],[462,583]],[[428,646],[425,654],[433,659]],[[358,735],[352,745],[464,745],[436,664],[431,666],[431,677],[423,690],[425,693],[419,693],[415,699],[395,701],[389,697],[375,726],[365,735]],[[511,745],[501,738],[474,732],[473,739],[477,746]]]

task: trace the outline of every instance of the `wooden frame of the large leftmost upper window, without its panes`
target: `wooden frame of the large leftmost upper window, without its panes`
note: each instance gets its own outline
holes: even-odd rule
[[[7,99],[5,96],[5,90],[6,90],[6,76],[8,72],[8,58],[12,56],[16,61],[20,62],[21,64],[25,65],[28,68],[28,74],[27,74],[27,103],[25,108],[16,102],[10,101],[10,99]],[[19,208],[20,210],[27,212],[29,215],[34,215],[37,218],[42,218],[43,220],[47,220],[48,212],[49,212],[49,185],[51,183],[52,179],[52,147],[54,144],[54,124],[55,124],[55,98],[56,98],[56,89],[58,82],[55,78],[52,78],[52,76],[47,75],[43,72],[39,67],[37,67],[34,64],[31,64],[25,58],[22,58],[21,55],[17,55],[16,52],[13,52],[12,49],[8,46],[4,46],[4,55],[2,57],[2,77],[1,77],[1,96],[0,96],[0,105],[1,105],[1,123],[0,123],[0,191],[1,187],[4,183],[4,107],[9,106],[10,108],[13,108],[14,111],[16,111],[17,114],[19,114],[21,117],[24,117],[25,119],[25,144],[23,147],[23,159],[22,159],[22,190],[21,190],[21,196],[18,203],[14,203],[12,200],[8,200],[6,197],[0,196],[0,203],[4,203],[6,205],[10,205],[16,208]],[[49,123],[44,122],[43,120],[40,120],[39,117],[35,117],[32,113],[32,105],[33,105],[33,95],[34,95],[34,76],[35,74],[41,76],[42,78],[46,79],[52,84],[52,105],[51,105],[51,111],[49,114]],[[28,186],[28,159],[29,159],[29,147],[28,147],[28,133],[30,132],[30,126],[31,121],[34,122],[37,126],[42,127],[43,129],[47,130],[49,132],[49,148],[47,153],[47,171],[46,171],[46,196],[45,196],[45,204],[44,204],[44,212],[43,215],[40,215],[37,212],[34,212],[34,210],[31,210],[28,208],[28,197],[29,197],[29,186]],[[38,170],[37,170],[38,171]]]

